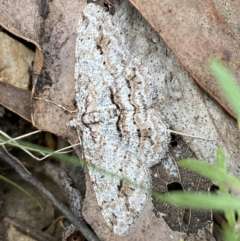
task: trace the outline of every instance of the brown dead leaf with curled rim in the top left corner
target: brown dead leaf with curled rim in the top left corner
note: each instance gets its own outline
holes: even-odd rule
[[[0,0],[0,25],[10,33],[36,46],[33,72],[39,74],[43,65],[40,36],[44,31],[43,18],[46,16],[48,1]],[[44,11],[45,9],[45,11]]]

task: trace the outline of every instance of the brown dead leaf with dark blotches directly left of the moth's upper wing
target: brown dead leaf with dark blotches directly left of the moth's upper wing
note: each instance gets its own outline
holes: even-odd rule
[[[71,4],[63,0],[49,2],[40,36],[44,67],[32,92],[33,124],[72,143],[77,141],[76,132],[66,124],[75,115],[69,111],[75,110],[76,29],[84,6],[84,1],[77,0]]]

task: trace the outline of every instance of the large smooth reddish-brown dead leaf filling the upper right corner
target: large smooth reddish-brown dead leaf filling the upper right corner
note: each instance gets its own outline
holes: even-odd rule
[[[239,1],[130,0],[173,50],[197,83],[234,115],[212,77],[208,58],[216,57],[240,83]]]

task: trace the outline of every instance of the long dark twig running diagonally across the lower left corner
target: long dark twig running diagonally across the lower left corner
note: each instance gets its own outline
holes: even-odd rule
[[[81,218],[77,218],[68,207],[59,202],[56,197],[49,192],[44,185],[34,176],[29,174],[20,162],[12,156],[5,147],[0,147],[0,157],[22,177],[23,180],[36,187],[61,213],[63,213],[69,221],[82,233],[88,241],[99,241],[97,236],[87,227],[86,223]]]

